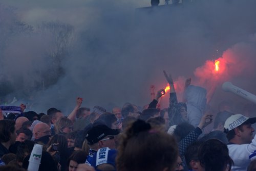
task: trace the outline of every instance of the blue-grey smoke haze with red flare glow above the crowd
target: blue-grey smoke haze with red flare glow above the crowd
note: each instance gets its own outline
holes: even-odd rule
[[[70,111],[77,96],[89,107],[143,106],[151,84],[166,86],[166,70],[179,83],[188,77],[207,89],[216,83],[212,105],[228,98],[248,103],[220,85],[231,81],[256,94],[256,1],[138,9],[149,4],[2,0],[1,97],[33,100],[38,112]],[[218,58],[223,72],[216,75],[210,68]]]

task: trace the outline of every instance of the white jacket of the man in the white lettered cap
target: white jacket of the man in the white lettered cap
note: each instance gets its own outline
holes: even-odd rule
[[[250,144],[228,144],[229,156],[234,161],[232,171],[246,171],[251,160],[249,155],[256,150],[256,135]]]

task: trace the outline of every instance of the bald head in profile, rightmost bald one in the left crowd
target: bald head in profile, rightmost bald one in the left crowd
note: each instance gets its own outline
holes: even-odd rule
[[[36,124],[33,129],[33,135],[34,135],[35,139],[39,139],[46,135],[51,135],[51,130],[50,130],[49,125],[47,125],[46,123]]]

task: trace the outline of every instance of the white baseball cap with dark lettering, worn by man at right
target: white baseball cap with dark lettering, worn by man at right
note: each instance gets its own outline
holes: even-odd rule
[[[247,117],[242,114],[234,114],[227,118],[224,124],[225,132],[228,132],[234,128],[241,126],[244,123],[254,124],[256,123],[256,117]]]

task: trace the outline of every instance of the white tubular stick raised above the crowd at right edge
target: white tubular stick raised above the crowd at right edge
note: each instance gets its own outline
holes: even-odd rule
[[[239,88],[239,87],[233,85],[230,82],[223,83],[222,84],[222,89],[224,91],[229,91],[229,92],[232,92],[234,94],[237,94],[238,96],[243,97],[244,99],[256,104],[256,95],[254,95],[254,94],[252,94],[248,91],[245,91],[242,88]]]

